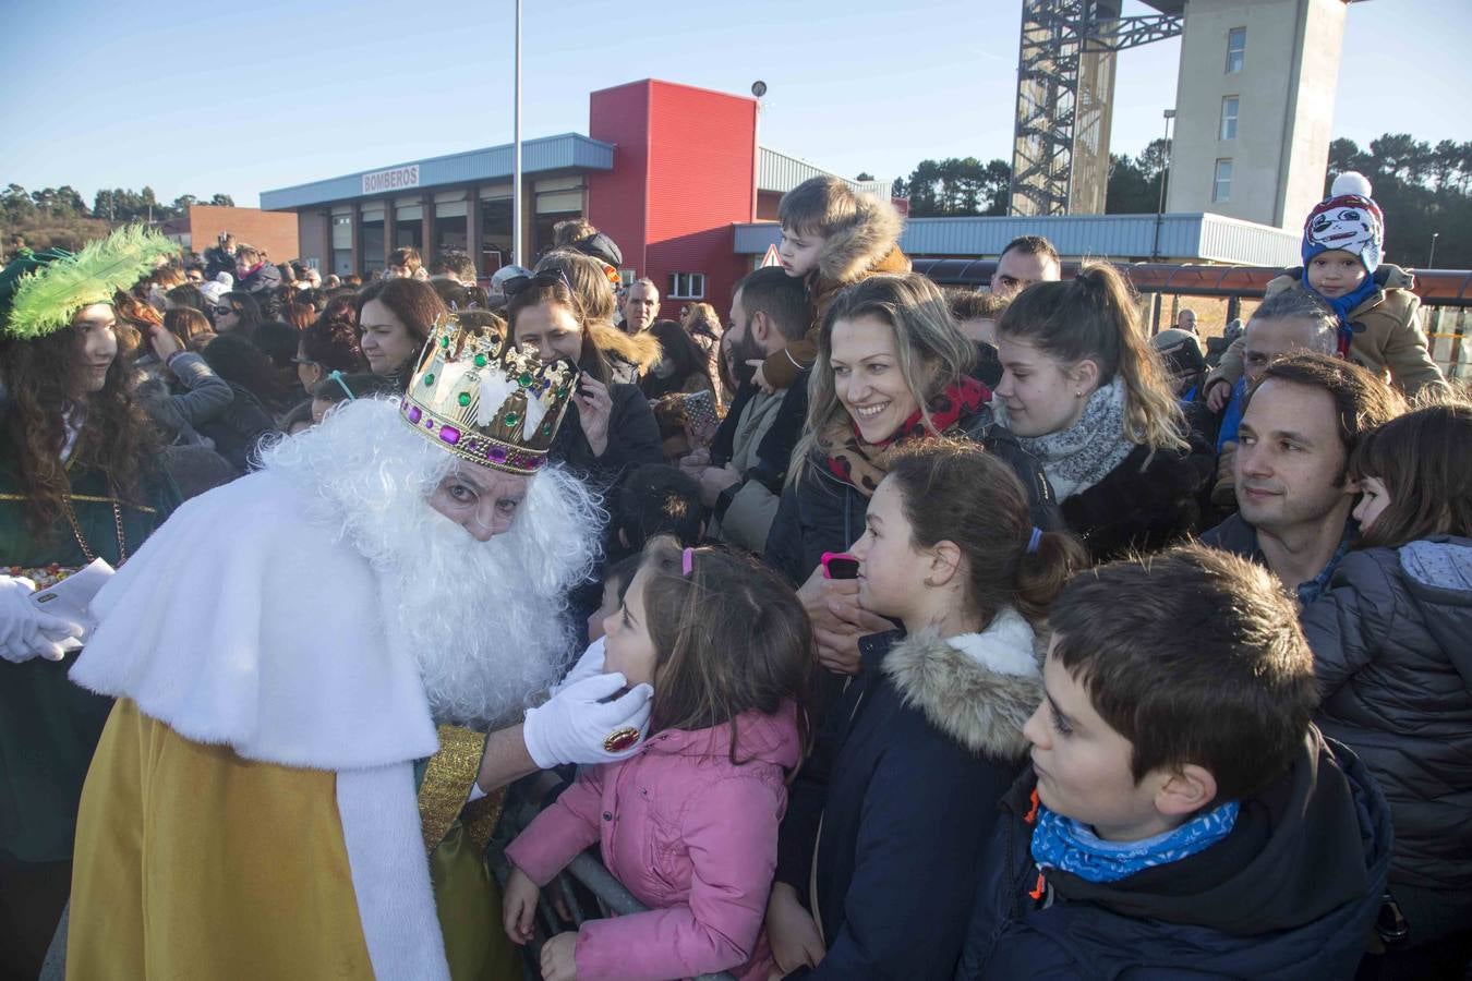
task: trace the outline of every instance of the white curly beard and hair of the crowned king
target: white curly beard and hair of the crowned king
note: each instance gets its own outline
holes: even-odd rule
[[[486,728],[524,709],[574,653],[567,596],[592,569],[604,513],[548,469],[511,529],[475,541],[428,504],[446,474],[475,465],[397,415],[389,400],[343,403],[262,462],[297,481],[372,565],[386,635],[420,665],[436,721]]]

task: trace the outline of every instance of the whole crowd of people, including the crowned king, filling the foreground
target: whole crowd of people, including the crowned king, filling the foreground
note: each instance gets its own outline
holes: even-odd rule
[[[580,219],[12,257],[7,977],[1463,977],[1472,400],[1363,178],[1206,349],[779,221],[724,318]],[[593,846],[646,909],[539,932]]]

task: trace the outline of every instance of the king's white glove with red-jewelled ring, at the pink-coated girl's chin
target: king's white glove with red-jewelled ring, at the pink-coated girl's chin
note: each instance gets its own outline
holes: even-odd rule
[[[521,738],[533,762],[549,769],[558,763],[612,763],[633,756],[649,732],[654,688],[640,684],[612,702],[601,702],[627,684],[620,674],[593,675],[528,709]]]

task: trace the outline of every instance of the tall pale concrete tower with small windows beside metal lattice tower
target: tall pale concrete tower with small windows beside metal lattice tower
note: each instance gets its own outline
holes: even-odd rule
[[[1323,197],[1347,0],[1189,0],[1167,212],[1289,231]]]

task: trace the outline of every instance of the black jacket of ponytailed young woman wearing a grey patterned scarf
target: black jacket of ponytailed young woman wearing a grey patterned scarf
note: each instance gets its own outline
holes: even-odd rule
[[[1108,477],[1063,500],[1063,521],[1095,562],[1156,552],[1200,531],[1211,456],[1138,446]]]

